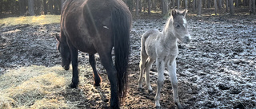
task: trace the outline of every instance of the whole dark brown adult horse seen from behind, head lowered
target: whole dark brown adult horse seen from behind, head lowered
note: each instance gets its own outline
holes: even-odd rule
[[[62,56],[62,67],[72,61],[71,88],[78,87],[78,50],[89,53],[94,71],[94,85],[101,77],[95,68],[98,53],[110,80],[110,107],[119,108],[126,95],[128,55],[130,51],[131,14],[122,0],[66,0],[62,7],[61,33],[56,36]],[[111,51],[114,47],[113,64]]]

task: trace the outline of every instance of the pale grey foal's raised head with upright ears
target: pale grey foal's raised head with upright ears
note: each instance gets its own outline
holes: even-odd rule
[[[172,21],[172,33],[174,33],[174,36],[177,37],[180,41],[188,44],[190,43],[191,36],[187,29],[187,21],[186,21],[186,13],[187,10],[172,10],[172,18],[170,20]]]

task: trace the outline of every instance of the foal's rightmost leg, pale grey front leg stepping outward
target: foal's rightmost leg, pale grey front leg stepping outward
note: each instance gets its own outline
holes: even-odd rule
[[[181,103],[179,103],[178,99],[178,80],[176,76],[176,56],[172,56],[170,58],[170,64],[167,64],[168,72],[170,74],[170,80],[174,93],[174,103],[177,105],[178,109],[182,109]]]

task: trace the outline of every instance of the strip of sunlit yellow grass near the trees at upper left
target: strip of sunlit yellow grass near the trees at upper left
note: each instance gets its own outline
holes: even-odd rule
[[[22,16],[18,18],[3,18],[0,19],[0,25],[45,25],[60,22],[60,15],[41,15],[41,16]]]

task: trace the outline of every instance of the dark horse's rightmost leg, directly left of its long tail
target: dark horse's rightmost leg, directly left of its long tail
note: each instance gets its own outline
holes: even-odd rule
[[[120,104],[118,99],[118,72],[114,68],[111,52],[98,54],[101,58],[103,67],[106,69],[108,79],[110,80],[110,108],[118,109]]]

